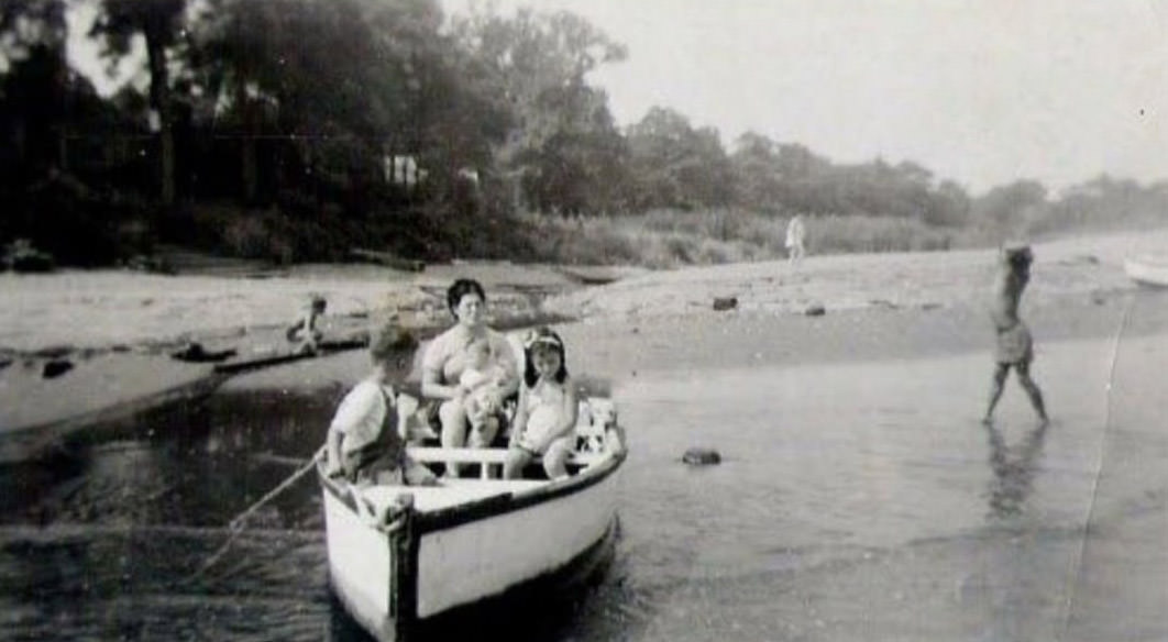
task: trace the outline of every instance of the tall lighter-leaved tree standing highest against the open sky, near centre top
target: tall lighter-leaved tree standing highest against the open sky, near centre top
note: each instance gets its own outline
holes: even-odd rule
[[[625,48],[568,12],[475,11],[453,32],[487,78],[481,89],[508,114],[495,161],[516,200],[565,212],[620,207],[624,145],[607,96],[586,76],[624,60]]]

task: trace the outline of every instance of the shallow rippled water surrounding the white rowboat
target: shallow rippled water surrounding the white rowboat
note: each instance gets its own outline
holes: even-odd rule
[[[1168,638],[1168,336],[1113,348],[1040,346],[1044,431],[1013,379],[978,421],[985,354],[639,371],[616,391],[616,558],[520,637]],[[341,392],[218,395],[0,470],[5,637],[361,640],[325,588],[311,476],[216,558]],[[682,465],[690,446],[722,465]]]

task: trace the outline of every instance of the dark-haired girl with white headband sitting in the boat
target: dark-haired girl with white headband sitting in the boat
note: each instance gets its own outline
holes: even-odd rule
[[[523,341],[523,385],[512,427],[503,477],[523,474],[540,460],[549,479],[568,475],[568,455],[576,447],[579,407],[568,375],[564,342],[549,328],[533,330]]]

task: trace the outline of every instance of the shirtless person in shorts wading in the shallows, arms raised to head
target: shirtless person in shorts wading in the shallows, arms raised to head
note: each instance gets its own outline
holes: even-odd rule
[[[1018,317],[1018,302],[1022,291],[1030,280],[1030,263],[1034,254],[1027,245],[1003,246],[999,254],[997,277],[994,280],[993,301],[989,315],[997,333],[994,350],[994,379],[989,389],[989,404],[986,406],[983,423],[993,420],[994,406],[1002,396],[1002,388],[1010,368],[1017,371],[1018,384],[1030,397],[1030,405],[1038,413],[1042,424],[1048,423],[1047,409],[1042,403],[1042,391],[1030,378],[1030,363],[1034,361],[1034,340],[1030,329]]]

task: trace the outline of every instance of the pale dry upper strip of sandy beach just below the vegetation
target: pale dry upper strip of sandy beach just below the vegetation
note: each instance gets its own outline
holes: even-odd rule
[[[1168,246],[1168,230],[1069,238],[1035,245],[1027,305],[1106,300],[1132,289],[1125,256]],[[298,266],[271,278],[155,275],[126,271],[0,274],[0,353],[54,347],[100,351],[279,327],[312,294],[334,317],[391,314],[408,323],[444,322],[442,292],[456,277],[482,281],[496,315],[526,306],[586,323],[801,315],[841,310],[925,310],[975,307],[993,270],[992,250],[811,257],[785,261],[646,272],[628,268],[617,282],[584,287],[551,266],[465,261],[398,272],[376,266]],[[616,268],[613,268],[616,270]],[[543,300],[545,295],[550,295]],[[728,313],[715,298],[735,298]]]

